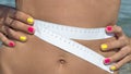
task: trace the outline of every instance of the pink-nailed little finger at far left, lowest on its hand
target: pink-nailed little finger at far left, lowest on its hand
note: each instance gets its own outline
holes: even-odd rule
[[[14,41],[9,40],[2,33],[0,33],[0,40],[9,47],[14,47],[15,46]]]

